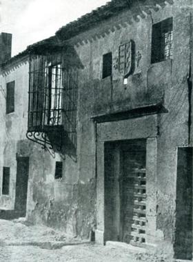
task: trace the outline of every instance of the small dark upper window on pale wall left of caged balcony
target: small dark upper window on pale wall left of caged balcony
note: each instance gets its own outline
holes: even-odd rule
[[[6,86],[6,114],[14,112],[14,81]]]

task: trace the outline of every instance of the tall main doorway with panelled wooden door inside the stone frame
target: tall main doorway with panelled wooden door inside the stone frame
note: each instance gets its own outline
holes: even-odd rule
[[[105,143],[105,241],[145,243],[146,141]]]

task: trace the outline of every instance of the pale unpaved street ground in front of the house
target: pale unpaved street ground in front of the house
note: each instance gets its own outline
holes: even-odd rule
[[[0,262],[173,262],[128,245],[94,245],[43,225],[0,220]]]

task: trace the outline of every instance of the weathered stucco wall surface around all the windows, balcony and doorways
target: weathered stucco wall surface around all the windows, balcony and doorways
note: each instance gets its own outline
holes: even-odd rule
[[[88,238],[96,229],[96,239],[103,242],[104,186],[103,143],[124,139],[147,139],[148,202],[150,243],[174,243],[176,161],[179,146],[192,145],[188,133],[189,101],[187,77],[190,73],[190,8],[183,1],[166,4],[157,12],[132,24],[124,23],[129,12],[119,20],[119,30],[100,34],[92,41],[74,45],[83,69],[79,70],[79,107],[77,112],[77,159],[56,154],[52,159],[39,145],[26,140],[28,112],[28,62],[11,65],[1,74],[1,85],[15,81],[15,112],[5,114],[5,98],[1,92],[0,168],[11,167],[10,196],[0,196],[0,209],[14,209],[16,154],[30,157],[27,217],[34,223],[46,223],[74,235]],[[173,59],[151,64],[152,23],[173,17]],[[118,21],[117,20],[117,21]],[[110,26],[105,21],[94,30]],[[92,35],[92,30],[86,32]],[[85,34],[79,37],[83,38]],[[139,66],[123,85],[123,76],[116,67],[119,46],[132,39],[136,53],[141,53]],[[112,52],[112,79],[102,79],[103,54]],[[94,125],[91,117],[128,110],[144,105],[163,103],[167,113]],[[97,141],[97,143],[96,143]],[[97,147],[96,147],[97,145]],[[97,154],[96,154],[97,151]],[[97,158],[97,170],[96,170]],[[63,161],[63,179],[54,179],[55,161]],[[96,172],[97,171],[97,172]],[[1,174],[1,173],[0,173]],[[97,175],[97,178],[96,178]],[[0,179],[2,175],[0,175]],[[0,180],[1,188],[1,180]],[[150,211],[151,210],[151,211]],[[152,212],[152,215],[150,214]],[[1,212],[0,212],[1,216]],[[152,233],[153,232],[153,233]],[[100,240],[101,239],[101,240]],[[165,246],[166,246],[165,245]],[[164,247],[165,247],[164,246]]]

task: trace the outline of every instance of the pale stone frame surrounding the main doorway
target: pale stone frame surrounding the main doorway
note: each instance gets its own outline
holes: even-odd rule
[[[155,245],[157,115],[96,124],[96,243],[105,244],[104,147],[105,142],[146,139],[146,241]]]

